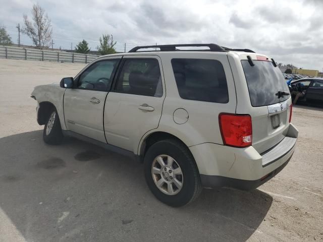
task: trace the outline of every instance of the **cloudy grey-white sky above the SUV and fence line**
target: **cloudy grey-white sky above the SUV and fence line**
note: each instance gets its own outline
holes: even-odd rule
[[[17,42],[15,26],[32,0],[0,0],[0,25]],[[54,47],[87,40],[95,49],[113,34],[117,51],[136,45],[217,43],[249,48],[304,69],[323,70],[323,0],[39,0],[52,22]],[[27,36],[23,44],[31,44]],[[74,47],[73,47],[74,48]]]

